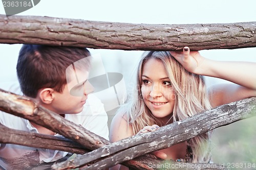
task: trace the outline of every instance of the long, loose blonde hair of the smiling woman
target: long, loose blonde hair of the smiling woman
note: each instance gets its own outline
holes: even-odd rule
[[[141,94],[142,68],[144,63],[152,58],[163,63],[175,91],[173,122],[211,108],[202,76],[188,72],[169,52],[145,52],[138,65],[135,91],[129,96],[128,102],[119,109],[119,112],[127,116],[127,122],[132,125],[134,135],[145,126],[154,124],[164,126],[147,108]],[[210,132],[204,133],[190,139],[187,143],[193,151],[193,162],[209,162],[209,136]]]

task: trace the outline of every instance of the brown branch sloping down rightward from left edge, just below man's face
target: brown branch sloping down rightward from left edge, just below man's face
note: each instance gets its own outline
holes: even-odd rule
[[[110,142],[62,116],[38,105],[33,99],[0,89],[0,110],[23,117],[63,135],[89,150]]]

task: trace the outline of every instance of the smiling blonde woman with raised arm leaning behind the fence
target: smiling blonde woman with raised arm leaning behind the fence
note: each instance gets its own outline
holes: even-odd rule
[[[255,68],[256,63],[252,62],[209,60],[199,52],[190,52],[188,47],[180,53],[144,53],[134,93],[113,118],[111,142],[155,131],[212,107],[256,96],[256,76],[252,74]],[[207,90],[203,76],[234,84],[215,85]],[[209,137],[210,132],[153,154],[166,160],[209,162]]]

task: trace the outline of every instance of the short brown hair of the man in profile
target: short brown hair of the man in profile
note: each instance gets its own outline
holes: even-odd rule
[[[67,84],[66,68],[90,55],[87,48],[24,44],[16,66],[22,92],[31,98],[36,98],[41,88],[62,92]],[[90,60],[87,70],[89,66]]]

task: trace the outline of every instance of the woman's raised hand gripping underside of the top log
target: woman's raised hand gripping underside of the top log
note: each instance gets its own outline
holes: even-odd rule
[[[194,74],[203,73],[203,63],[205,58],[198,51],[190,51],[185,46],[183,52],[170,51],[170,54],[189,72]]]

